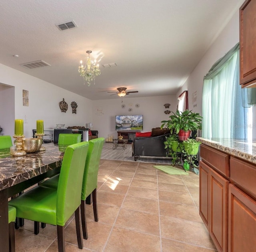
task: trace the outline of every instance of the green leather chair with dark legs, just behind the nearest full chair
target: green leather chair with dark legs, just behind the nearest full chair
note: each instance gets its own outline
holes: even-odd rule
[[[100,156],[102,147],[105,142],[104,138],[96,138],[89,141],[89,150],[87,153],[84,178],[81,193],[81,218],[82,218],[82,229],[84,239],[88,239],[87,226],[86,226],[86,211],[85,211],[85,200],[92,194],[92,204],[94,212],[94,221],[98,222],[98,210],[97,210],[97,180],[98,180],[98,169],[100,166]],[[41,186],[56,188],[58,186],[59,175],[56,175],[43,183]]]

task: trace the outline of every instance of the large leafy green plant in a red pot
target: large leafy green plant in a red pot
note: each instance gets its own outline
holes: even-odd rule
[[[192,110],[185,110],[176,113],[172,112],[169,120],[162,121],[161,128],[168,128],[171,133],[174,131],[179,136],[179,140],[186,140],[190,136],[191,130],[202,130],[202,116]]]

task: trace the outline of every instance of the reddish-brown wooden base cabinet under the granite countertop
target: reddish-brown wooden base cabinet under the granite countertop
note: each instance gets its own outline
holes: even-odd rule
[[[254,252],[256,165],[231,155],[201,144],[199,214],[219,252]]]

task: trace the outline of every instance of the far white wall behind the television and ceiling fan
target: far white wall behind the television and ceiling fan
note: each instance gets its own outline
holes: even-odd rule
[[[152,96],[140,98],[123,98],[111,100],[92,101],[92,124],[93,130],[99,131],[99,137],[108,138],[113,136],[117,138],[115,130],[116,115],[143,115],[143,132],[151,131],[152,128],[160,127],[162,120],[168,120],[165,110],[176,111],[177,100],[175,95]],[[170,103],[170,108],[165,108],[164,104]],[[122,108],[122,104],[125,108]],[[139,108],[136,108],[139,104]],[[132,112],[128,111],[132,108]]]

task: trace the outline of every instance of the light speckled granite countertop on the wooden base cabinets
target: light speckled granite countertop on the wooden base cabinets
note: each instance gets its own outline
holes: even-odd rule
[[[231,138],[196,138],[202,144],[226,152],[246,161],[256,163],[256,140]]]

